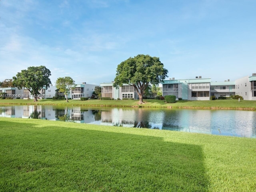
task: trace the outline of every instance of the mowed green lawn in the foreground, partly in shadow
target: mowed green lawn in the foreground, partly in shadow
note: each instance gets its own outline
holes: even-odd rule
[[[256,140],[0,118],[0,191],[256,191]]]

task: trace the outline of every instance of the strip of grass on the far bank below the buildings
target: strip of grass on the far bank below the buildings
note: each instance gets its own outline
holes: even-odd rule
[[[73,106],[107,106],[107,107],[155,107],[155,108],[205,108],[205,109],[242,109],[256,110],[256,101],[241,100],[208,100],[185,101],[167,104],[163,100],[144,100],[145,104],[138,104],[138,100],[52,100],[44,99],[38,102],[33,100],[0,100],[0,105],[73,105]]]

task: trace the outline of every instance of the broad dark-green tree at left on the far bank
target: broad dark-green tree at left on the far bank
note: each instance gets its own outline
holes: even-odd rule
[[[34,102],[37,101],[37,96],[42,88],[49,88],[51,80],[49,76],[51,72],[45,66],[28,67],[27,70],[21,70],[13,77],[13,85],[18,89],[26,88],[34,97]]]

